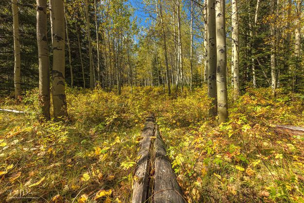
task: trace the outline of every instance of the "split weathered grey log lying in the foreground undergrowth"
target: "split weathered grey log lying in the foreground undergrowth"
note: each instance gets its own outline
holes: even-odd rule
[[[146,119],[142,137],[132,203],[185,203],[153,116]]]

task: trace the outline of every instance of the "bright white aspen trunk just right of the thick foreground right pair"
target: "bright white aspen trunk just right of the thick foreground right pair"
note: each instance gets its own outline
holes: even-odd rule
[[[239,69],[239,21],[237,0],[232,0],[232,34],[233,34],[233,98],[240,96],[240,69]]]

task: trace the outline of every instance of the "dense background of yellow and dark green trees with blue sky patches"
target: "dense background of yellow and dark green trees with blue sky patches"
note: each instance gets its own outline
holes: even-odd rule
[[[300,1],[297,1],[301,3]],[[246,86],[267,87],[271,83],[271,47],[275,43],[275,69],[278,87],[295,92],[303,91],[303,57],[296,57],[295,30],[298,26],[297,2],[288,0],[261,1],[256,10],[256,1],[238,2],[239,24],[239,66],[241,89]],[[21,86],[23,90],[38,85],[38,55],[36,42],[36,5],[34,0],[18,1],[21,57]],[[68,86],[89,87],[89,42],[86,29],[84,1],[65,2],[65,15],[69,41],[66,38],[66,83]],[[126,0],[88,2],[89,35],[92,44],[92,66],[94,84],[107,90],[117,91],[117,84],[134,86],[160,86],[166,83],[166,65],[163,48],[162,26],[167,40],[169,76],[172,85],[193,86],[204,82],[204,61],[206,44],[204,41],[204,2],[180,2],[180,18],[176,1],[161,2],[162,19],[157,17],[154,1],[134,2],[136,12],[145,18],[138,18],[134,7]],[[134,4],[133,3],[133,4]],[[191,13],[191,5],[193,12]],[[2,95],[14,91],[14,43],[11,3],[1,1],[1,52],[0,52],[0,92]],[[160,5],[158,5],[160,7]],[[160,8],[159,8],[160,9]],[[301,6],[300,6],[301,9]],[[303,9],[303,6],[302,6]],[[160,13],[160,11],[158,11]],[[48,10],[49,13],[49,10]],[[96,15],[96,19],[95,19]],[[231,86],[232,54],[232,6],[226,4],[227,31],[227,80]],[[256,17],[256,22],[255,22]],[[191,19],[193,18],[193,24]],[[300,16],[301,18],[301,16]],[[143,22],[145,20],[145,22]],[[300,22],[303,20],[300,20]],[[181,49],[179,50],[179,29]],[[145,26],[143,26],[145,25]],[[149,25],[149,26],[147,26]],[[275,36],[270,33],[275,27]],[[301,26],[301,25],[300,25]],[[191,31],[191,27],[193,30]],[[97,38],[98,48],[97,53]],[[256,34],[253,34],[256,33]],[[191,36],[193,53],[191,54]],[[303,29],[301,30],[303,36]],[[79,38],[79,41],[78,41]],[[48,41],[51,50],[51,23],[48,19]],[[301,39],[303,43],[303,38]],[[301,48],[303,52],[303,46]],[[69,61],[69,52],[71,61]],[[182,66],[178,64],[182,53]],[[52,67],[52,52],[51,67]],[[181,67],[179,67],[181,66]],[[191,67],[193,70],[191,71]],[[82,70],[83,68],[83,70]],[[179,77],[179,68],[181,80]],[[252,71],[254,68],[254,71]],[[192,72],[192,74],[191,74]],[[72,74],[72,75],[71,75]],[[83,77],[84,75],[84,77]],[[71,77],[72,76],[72,77]],[[118,77],[119,76],[119,77]],[[100,80],[99,80],[100,79]],[[117,81],[120,81],[119,83]]]

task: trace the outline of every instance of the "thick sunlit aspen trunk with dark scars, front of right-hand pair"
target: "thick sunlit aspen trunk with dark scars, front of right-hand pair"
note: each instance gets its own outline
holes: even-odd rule
[[[228,119],[228,94],[226,83],[227,51],[225,26],[225,0],[216,0],[216,88],[218,122]]]

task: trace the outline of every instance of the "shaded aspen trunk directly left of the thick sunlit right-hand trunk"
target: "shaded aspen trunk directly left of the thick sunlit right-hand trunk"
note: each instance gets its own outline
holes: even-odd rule
[[[207,0],[208,19],[208,97],[213,99],[210,115],[217,114],[215,0]]]

